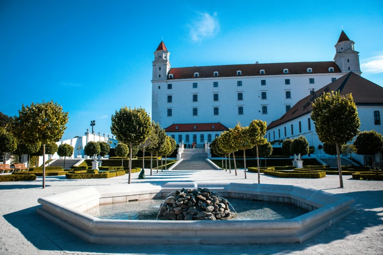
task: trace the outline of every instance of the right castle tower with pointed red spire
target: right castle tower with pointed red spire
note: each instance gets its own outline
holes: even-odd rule
[[[339,66],[342,73],[354,72],[361,74],[359,64],[359,52],[354,50],[354,41],[351,41],[342,30],[338,43],[335,44],[336,54],[334,62]]]

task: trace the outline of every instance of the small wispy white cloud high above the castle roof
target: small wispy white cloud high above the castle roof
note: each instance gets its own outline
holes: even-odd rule
[[[197,13],[198,18],[188,25],[190,28],[190,37],[193,41],[202,41],[208,37],[214,37],[220,30],[220,23],[217,19],[217,13],[213,16],[208,13]]]

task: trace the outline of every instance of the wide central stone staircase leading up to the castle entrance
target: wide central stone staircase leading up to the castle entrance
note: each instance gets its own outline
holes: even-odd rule
[[[184,149],[182,161],[173,170],[216,170],[206,158],[205,149]]]

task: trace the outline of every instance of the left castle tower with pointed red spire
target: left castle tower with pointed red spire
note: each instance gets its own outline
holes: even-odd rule
[[[170,52],[167,50],[165,43],[161,41],[154,52],[153,63],[153,81],[162,81],[167,79],[170,70],[169,61]]]

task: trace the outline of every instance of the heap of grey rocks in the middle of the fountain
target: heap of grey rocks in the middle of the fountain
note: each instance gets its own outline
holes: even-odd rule
[[[229,202],[217,192],[198,188],[172,192],[159,210],[167,220],[227,220],[237,216],[229,209]]]

